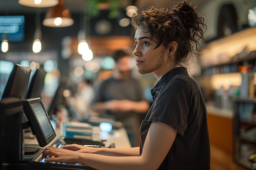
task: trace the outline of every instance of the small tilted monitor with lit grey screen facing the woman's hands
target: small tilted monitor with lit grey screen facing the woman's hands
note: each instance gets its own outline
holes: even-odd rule
[[[41,147],[46,146],[56,137],[56,133],[41,98],[24,99],[22,104],[27,124],[36,136],[38,144]]]

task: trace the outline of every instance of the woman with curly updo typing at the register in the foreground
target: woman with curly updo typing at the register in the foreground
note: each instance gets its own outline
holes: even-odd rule
[[[207,111],[198,84],[185,64],[199,51],[206,27],[196,6],[182,1],[171,10],[151,7],[132,17],[136,65],[158,79],[153,104],[140,127],[140,146],[48,147],[47,161],[83,163],[99,170],[209,170]],[[195,48],[195,50],[194,50]]]

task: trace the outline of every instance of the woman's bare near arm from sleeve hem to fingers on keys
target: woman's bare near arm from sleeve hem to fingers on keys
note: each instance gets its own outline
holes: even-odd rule
[[[98,170],[156,170],[170,150],[176,134],[177,131],[171,126],[152,122],[140,156],[106,156],[54,147],[46,148],[43,155],[55,156],[47,161],[83,163]]]

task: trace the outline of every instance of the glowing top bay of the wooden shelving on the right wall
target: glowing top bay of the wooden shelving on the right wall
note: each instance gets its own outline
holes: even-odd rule
[[[248,60],[256,51],[256,27],[239,31],[206,44],[202,50],[202,67],[230,64]],[[234,60],[235,59],[235,60]],[[234,60],[232,62],[232,60]]]

